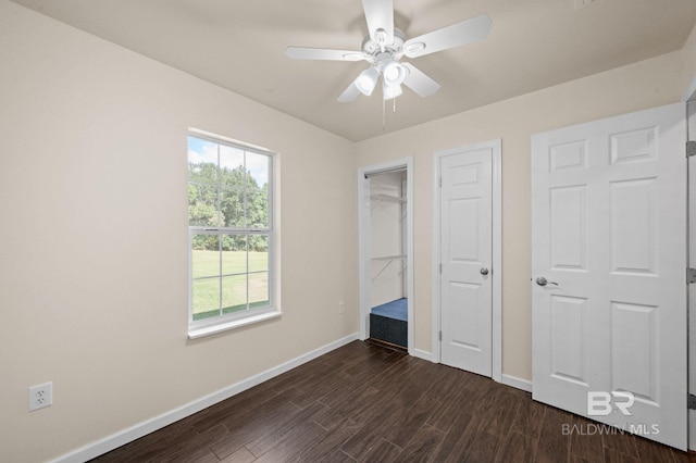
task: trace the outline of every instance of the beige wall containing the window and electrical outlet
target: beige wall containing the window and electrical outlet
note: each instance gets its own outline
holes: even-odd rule
[[[343,138],[0,0],[0,461],[46,461],[355,334]],[[187,340],[187,127],[279,153],[279,320]],[[338,302],[345,301],[345,314]],[[54,404],[27,412],[28,387]]]

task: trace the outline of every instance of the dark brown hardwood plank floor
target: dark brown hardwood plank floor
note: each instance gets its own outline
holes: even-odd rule
[[[355,341],[95,461],[696,462],[592,423],[489,378]]]

